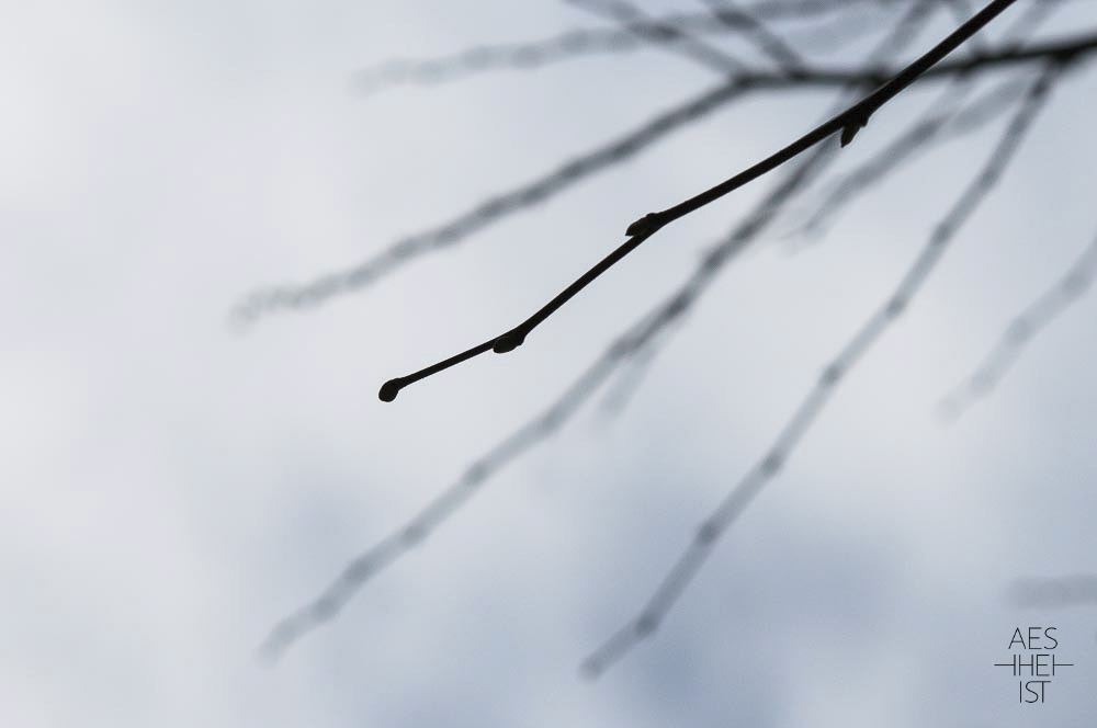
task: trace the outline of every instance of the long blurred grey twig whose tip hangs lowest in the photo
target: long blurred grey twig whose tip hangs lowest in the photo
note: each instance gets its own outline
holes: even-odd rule
[[[726,533],[727,528],[746,510],[766,484],[788,462],[795,446],[816,421],[839,383],[849,374],[850,368],[863,357],[887,327],[909,306],[913,297],[945,253],[948,243],[1000,179],[1026,132],[1031,127],[1037,113],[1047,102],[1049,91],[1061,70],[1062,65],[1053,64],[1041,73],[1031,87],[1025,103],[995,146],[984,168],[935,228],[928,242],[886,303],[823,369],[818,382],[808,391],[772,445],[701,524],[690,545],[640,614],[587,658],[583,664],[587,675],[597,676],[658,628],[687,584],[712,553],[720,537]]]

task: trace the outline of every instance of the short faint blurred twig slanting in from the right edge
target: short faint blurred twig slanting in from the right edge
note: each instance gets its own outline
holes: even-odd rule
[[[980,398],[989,394],[1009,372],[1018,356],[1052,321],[1089,289],[1097,274],[1097,239],[1071,265],[1059,282],[1021,311],[979,367],[940,405],[941,417],[955,420]]]

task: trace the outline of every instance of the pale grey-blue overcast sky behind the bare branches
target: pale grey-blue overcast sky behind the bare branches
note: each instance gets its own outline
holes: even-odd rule
[[[1066,4],[1043,37],[1097,25],[1092,2]],[[1005,599],[1017,577],[1097,571],[1097,300],[959,422],[935,417],[1097,235],[1097,68],[1056,87],[999,189],[659,632],[590,682],[579,662],[886,299],[1002,123],[903,167],[818,244],[767,237],[623,414],[596,398],[271,666],[256,649],[280,618],[548,405],[774,179],[660,232],[517,352],[392,405],[381,383],[513,326],[630,220],[805,132],[835,92],[751,96],[240,334],[228,311],[257,286],[362,260],[719,79],[647,48],[355,88],[393,56],[600,22],[562,2],[43,0],[3,18],[3,725],[906,728],[1097,710],[1097,605]],[[912,52],[954,22],[939,12]],[[939,92],[885,107],[841,164]],[[1043,705],[1018,705],[993,667],[1029,626],[1056,627],[1076,666]]]

